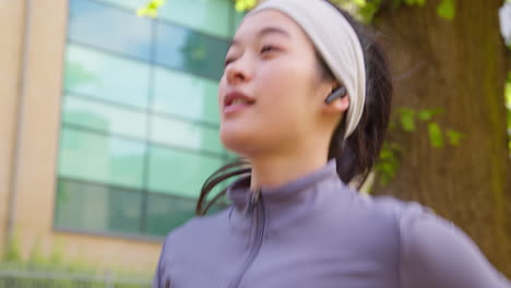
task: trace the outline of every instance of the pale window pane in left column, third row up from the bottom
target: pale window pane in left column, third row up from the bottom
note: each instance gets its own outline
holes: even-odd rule
[[[145,139],[145,113],[83,97],[66,95],[63,98],[62,121],[67,124]]]

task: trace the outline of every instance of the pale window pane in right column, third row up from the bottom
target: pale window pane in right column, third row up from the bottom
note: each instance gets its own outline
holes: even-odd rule
[[[218,130],[198,123],[154,116],[151,119],[151,141],[200,151],[223,153]]]

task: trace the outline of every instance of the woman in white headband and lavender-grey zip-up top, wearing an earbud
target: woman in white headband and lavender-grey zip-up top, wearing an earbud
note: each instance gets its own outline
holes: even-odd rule
[[[154,287],[511,287],[417,203],[361,197],[392,84],[372,36],[325,0],[268,0],[242,21],[218,89],[237,161],[206,180],[233,205],[166,239]]]

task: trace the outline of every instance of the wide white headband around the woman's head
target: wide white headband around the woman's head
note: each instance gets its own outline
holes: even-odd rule
[[[360,121],[366,100],[364,51],[352,25],[325,0],[266,0],[249,14],[263,9],[278,10],[298,23],[346,87],[349,107],[344,139],[347,139]]]

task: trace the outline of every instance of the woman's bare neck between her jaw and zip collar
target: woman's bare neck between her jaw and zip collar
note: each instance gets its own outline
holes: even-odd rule
[[[319,153],[322,151],[316,147],[299,154],[250,157],[250,189],[253,191],[260,187],[276,188],[322,168],[328,163],[328,156]]]

